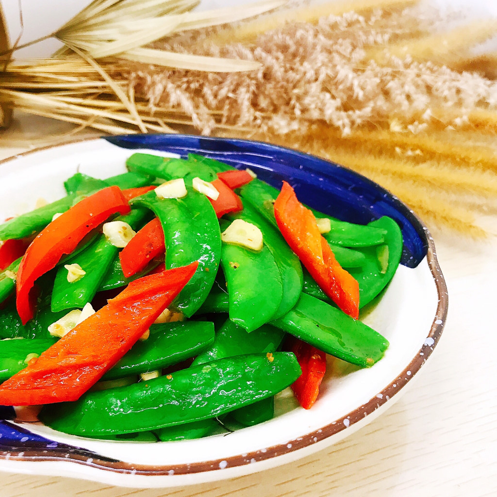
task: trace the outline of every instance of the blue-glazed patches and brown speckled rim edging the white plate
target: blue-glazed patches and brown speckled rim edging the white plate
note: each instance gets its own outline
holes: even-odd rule
[[[268,447],[264,452],[233,456],[228,458],[228,461],[212,460],[167,466],[133,464],[32,433],[24,426],[10,421],[15,418],[13,408],[0,406],[0,459],[69,461],[105,471],[144,476],[187,475],[213,471],[220,468],[220,463],[226,462],[232,468],[245,466],[248,460],[267,460],[302,449],[373,414],[414,377],[435,348],[447,318],[448,295],[433,239],[414,212],[377,183],[344,166],[264,142],[174,134],[134,134],[103,138],[109,143],[130,150],[151,149],[179,154],[182,157],[188,153],[196,153],[237,168],[249,167],[260,179],[277,188],[281,187],[281,181],[285,179],[295,188],[302,202],[344,221],[367,224],[381,216],[390,216],[399,224],[404,237],[401,264],[416,267],[426,257],[438,294],[436,314],[422,347],[401,374],[380,392],[381,396],[378,394],[342,418],[332,420],[328,425],[305,437],[299,437],[290,441],[291,443],[286,442],[285,445]],[[75,140],[63,145],[88,140],[94,139]],[[20,156],[54,147],[57,146],[40,148]],[[12,159],[0,161],[0,165],[10,160]]]

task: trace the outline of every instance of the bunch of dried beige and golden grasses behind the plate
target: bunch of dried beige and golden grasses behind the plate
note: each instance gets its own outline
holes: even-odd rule
[[[172,3],[186,8],[187,2]],[[105,133],[193,126],[293,146],[378,181],[432,229],[482,236],[475,216],[497,208],[497,83],[489,78],[497,73],[497,56],[476,57],[470,49],[497,29],[482,21],[441,32],[437,13],[415,4],[298,3],[255,22],[187,31],[171,22],[163,40],[135,48],[130,41],[125,61],[114,50],[123,32],[111,23],[104,35],[86,15],[77,19],[79,31],[61,31],[80,57],[66,48],[57,59],[9,66],[0,78],[0,102]],[[106,43],[95,42],[98,36]],[[145,57],[158,52],[166,60],[176,54],[258,69],[165,69],[161,58],[151,64]]]

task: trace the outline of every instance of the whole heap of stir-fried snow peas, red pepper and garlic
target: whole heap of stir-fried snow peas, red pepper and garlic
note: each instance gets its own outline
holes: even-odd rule
[[[133,154],[107,179],[0,225],[0,405],[109,440],[191,439],[311,409],[331,359],[389,343],[361,322],[402,254],[250,170]],[[290,392],[290,390],[289,390]]]

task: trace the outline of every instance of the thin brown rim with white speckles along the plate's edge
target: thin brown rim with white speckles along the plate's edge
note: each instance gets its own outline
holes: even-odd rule
[[[36,148],[27,152],[16,154],[10,158],[0,161],[0,166],[4,163],[15,160],[18,157],[30,155],[43,150],[58,148],[65,145],[73,145],[85,141],[97,141],[99,138],[83,138],[78,140],[68,141],[57,145],[48,145],[45,147]],[[391,195],[391,194],[390,194]],[[196,473],[205,473],[209,471],[218,471],[223,468],[237,468],[243,467],[254,462],[265,461],[268,459],[276,458],[279,456],[287,455],[297,450],[303,449],[317,442],[325,440],[349,426],[363,420],[366,416],[373,414],[376,410],[382,407],[400,390],[405,387],[419,371],[421,366],[426,362],[427,358],[433,352],[438,340],[442,334],[448,312],[448,292],[447,285],[443,274],[441,272],[438,260],[436,257],[435,245],[433,239],[424,226],[421,220],[412,213],[413,217],[417,220],[419,225],[423,228],[426,243],[427,253],[426,262],[429,270],[433,276],[437,295],[438,303],[435,317],[433,318],[431,329],[427,334],[427,338],[423,346],[417,351],[414,358],[406,366],[406,368],[387,385],[382,391],[378,392],[367,403],[359,406],[358,408],[350,411],[348,414],[331,421],[329,424],[324,425],[318,430],[311,431],[305,435],[299,436],[293,440],[287,440],[284,444],[273,445],[267,447],[264,451],[257,450],[236,456],[226,457],[223,459],[214,459],[210,461],[200,461],[183,464],[168,464],[168,465],[147,465],[147,464],[133,464],[123,461],[117,461],[111,458],[99,456],[91,451],[85,449],[75,449],[67,453],[61,453],[60,450],[33,450],[19,448],[18,450],[0,451],[0,459],[17,460],[17,461],[59,461],[71,462],[82,464],[86,467],[106,470],[115,473],[141,475],[141,476],[170,476],[170,475],[191,475]],[[421,263],[424,263],[421,262]],[[167,443],[167,442],[163,442]],[[82,476],[83,477],[83,476]]]

